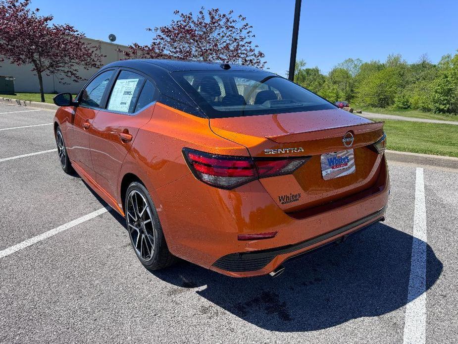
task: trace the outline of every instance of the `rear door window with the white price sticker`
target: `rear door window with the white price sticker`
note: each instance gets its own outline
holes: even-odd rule
[[[127,70],[121,71],[114,83],[106,109],[133,113],[144,82],[143,76]]]

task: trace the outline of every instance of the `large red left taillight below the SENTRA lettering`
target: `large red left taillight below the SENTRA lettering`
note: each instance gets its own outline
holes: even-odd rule
[[[197,179],[222,189],[233,189],[258,178],[290,174],[310,159],[237,157],[190,148],[183,148],[183,156]]]

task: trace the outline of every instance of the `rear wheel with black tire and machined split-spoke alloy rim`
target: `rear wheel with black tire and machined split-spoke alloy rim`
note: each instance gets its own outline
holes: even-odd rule
[[[140,262],[148,270],[159,270],[173,264],[176,257],[168,250],[156,208],[146,187],[133,182],[125,196],[126,227]]]

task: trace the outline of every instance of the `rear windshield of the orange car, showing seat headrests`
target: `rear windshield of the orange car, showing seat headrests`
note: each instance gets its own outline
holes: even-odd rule
[[[301,86],[268,72],[199,70],[172,76],[210,118],[335,109]]]

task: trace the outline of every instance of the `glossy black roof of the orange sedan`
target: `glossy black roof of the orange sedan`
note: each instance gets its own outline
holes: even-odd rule
[[[148,65],[163,68],[169,72],[187,71],[187,70],[224,70],[221,62],[206,62],[206,61],[192,61],[192,60],[173,60],[173,59],[129,59],[121,60],[107,64],[106,67],[131,67],[134,69],[142,70]],[[240,64],[228,63],[231,68],[229,70],[245,70],[255,71],[260,70],[251,66],[243,66]],[[142,68],[143,66],[143,68]],[[149,69],[149,68],[147,68]]]

